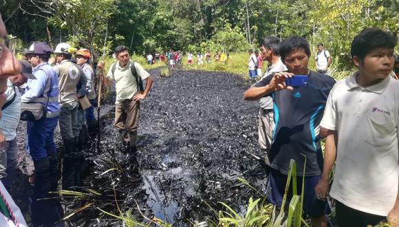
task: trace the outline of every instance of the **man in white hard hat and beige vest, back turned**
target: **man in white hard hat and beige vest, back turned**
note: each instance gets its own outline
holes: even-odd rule
[[[59,127],[65,147],[63,186],[78,186],[81,183],[81,167],[85,162],[84,153],[78,150],[78,109],[79,99],[87,95],[87,78],[81,67],[72,62],[74,48],[67,43],[56,45],[54,54],[57,65],[54,71],[59,80],[59,103],[61,106]]]

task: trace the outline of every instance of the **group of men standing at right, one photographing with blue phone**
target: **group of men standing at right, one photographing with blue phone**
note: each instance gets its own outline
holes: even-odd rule
[[[244,99],[260,100],[259,145],[268,165],[268,202],[288,206],[292,190],[287,204],[282,204],[283,195],[290,160],[295,160],[295,194],[303,193],[303,210],[313,226],[327,226],[328,196],[335,199],[340,227],[374,226],[385,219],[399,226],[399,81],[393,72],[398,70],[393,55],[397,44],[396,34],[365,28],[352,41],[357,71],[336,82],[325,75],[331,56],[323,44],[315,56],[318,72],[313,72],[306,39],[264,39],[267,72]],[[249,61],[255,62],[250,54]],[[307,83],[288,85],[297,75],[308,76]]]

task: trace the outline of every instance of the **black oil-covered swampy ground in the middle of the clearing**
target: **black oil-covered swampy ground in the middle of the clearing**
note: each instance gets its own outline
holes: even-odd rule
[[[244,211],[250,196],[264,196],[264,166],[248,154],[261,156],[258,105],[243,100],[249,85],[239,76],[219,72],[174,69],[169,78],[161,78],[159,69],[150,73],[155,82],[140,107],[138,165],[124,152],[112,125],[111,95],[100,109],[100,151],[93,138],[85,184],[76,188],[87,194],[74,200],[74,208],[87,208],[69,219],[71,226],[121,226],[98,208],[115,215],[120,215],[119,209],[125,214],[131,210],[128,213],[139,221],[145,215],[173,226],[191,226],[214,219],[209,206],[218,210],[217,202]],[[23,126],[22,150],[21,130]],[[56,141],[62,146],[59,135]],[[25,173],[32,171],[29,162],[21,167]],[[241,184],[239,177],[259,192]],[[73,208],[67,208],[67,213],[73,213]]]

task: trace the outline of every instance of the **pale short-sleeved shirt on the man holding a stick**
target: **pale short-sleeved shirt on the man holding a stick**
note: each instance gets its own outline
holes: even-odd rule
[[[125,67],[120,67],[119,61],[116,63],[116,68],[114,74],[112,74],[112,65],[109,67],[107,78],[109,80],[115,80],[116,87],[116,104],[122,102],[123,100],[133,98],[133,95],[138,92],[138,85],[136,83],[136,78],[131,74],[130,64],[131,61],[125,65]],[[139,63],[134,63],[136,68],[136,73],[142,78],[142,80],[147,79],[150,75]]]

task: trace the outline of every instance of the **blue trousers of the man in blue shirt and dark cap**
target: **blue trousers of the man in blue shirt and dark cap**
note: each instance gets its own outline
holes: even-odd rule
[[[54,129],[57,123],[58,117],[28,121],[28,147],[32,160],[41,160],[47,157],[47,153],[56,152]]]

